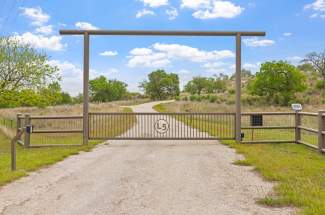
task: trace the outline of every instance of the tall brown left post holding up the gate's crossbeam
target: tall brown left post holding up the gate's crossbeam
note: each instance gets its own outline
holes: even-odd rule
[[[89,139],[89,33],[84,32],[83,144]]]

